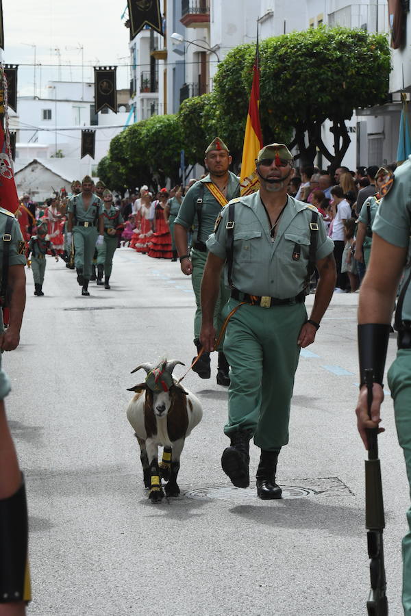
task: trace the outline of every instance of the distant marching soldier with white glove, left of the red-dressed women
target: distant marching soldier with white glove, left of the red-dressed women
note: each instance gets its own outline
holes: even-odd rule
[[[95,247],[104,242],[103,203],[93,194],[92,186],[92,179],[86,175],[82,181],[82,192],[73,196],[67,206],[67,241],[71,244],[73,233],[77,282],[82,287],[82,295],[86,296],[90,295],[88,281]]]

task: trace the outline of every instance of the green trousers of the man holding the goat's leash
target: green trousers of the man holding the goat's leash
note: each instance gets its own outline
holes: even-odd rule
[[[228,314],[238,301],[230,299]],[[297,339],[307,312],[303,303],[263,308],[244,304],[230,318],[223,350],[230,365],[227,436],[250,430],[256,446],[279,450],[288,443],[290,402],[299,361]]]

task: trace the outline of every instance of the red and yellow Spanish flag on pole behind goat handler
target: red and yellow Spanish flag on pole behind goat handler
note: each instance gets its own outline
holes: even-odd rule
[[[247,124],[245,126],[244,145],[242,146],[242,161],[240,175],[240,192],[242,195],[256,192],[259,188],[256,175],[256,158],[262,149],[262,133],[260,125],[260,65],[258,57],[258,34],[256,60],[253,66],[253,85],[251,86]]]

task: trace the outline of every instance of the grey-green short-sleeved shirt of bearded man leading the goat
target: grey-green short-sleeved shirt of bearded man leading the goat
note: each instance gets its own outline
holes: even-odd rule
[[[306,287],[310,248],[310,222],[316,208],[288,196],[277,235],[271,238],[269,220],[260,199],[260,191],[240,197],[234,206],[234,257],[232,282],[243,293],[275,298],[297,296]],[[207,241],[210,253],[227,256],[228,207],[221,211],[216,231]],[[316,261],[334,251],[325,225],[318,217]],[[299,256],[298,247],[300,250]],[[227,267],[226,267],[227,270]],[[227,282],[227,271],[225,272]]]

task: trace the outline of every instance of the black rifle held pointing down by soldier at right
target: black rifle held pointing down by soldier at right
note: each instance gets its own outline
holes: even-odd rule
[[[373,370],[364,370],[367,390],[367,407],[371,419],[373,402]],[[387,616],[386,574],[382,534],[385,528],[382,498],[381,467],[378,458],[378,428],[366,430],[369,459],[365,461],[365,527],[370,561],[371,589],[366,608],[369,616]]]

